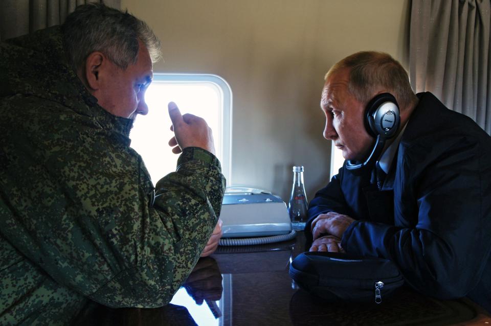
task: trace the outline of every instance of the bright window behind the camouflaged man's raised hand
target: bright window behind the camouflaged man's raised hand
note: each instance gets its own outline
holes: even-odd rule
[[[167,144],[173,136],[167,110],[171,101],[182,114],[192,113],[206,120],[213,130],[222,173],[230,183],[232,90],[224,79],[216,75],[154,74],[145,101],[148,114],[137,117],[130,138],[154,184],[176,167],[178,155]]]

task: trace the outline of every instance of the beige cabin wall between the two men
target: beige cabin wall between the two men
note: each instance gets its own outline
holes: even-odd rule
[[[331,142],[319,108],[329,67],[362,50],[409,67],[410,0],[122,0],[121,8],[161,39],[164,61],[154,72],[228,81],[232,184],[284,200],[294,165],[305,167],[309,200],[329,180]]]

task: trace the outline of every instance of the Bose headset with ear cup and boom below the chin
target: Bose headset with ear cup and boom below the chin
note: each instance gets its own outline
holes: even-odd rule
[[[389,93],[382,93],[371,99],[365,108],[364,124],[367,132],[376,137],[375,146],[364,162],[346,160],[346,169],[353,172],[371,167],[382,153],[386,139],[392,138],[397,133],[400,116],[395,97]]]

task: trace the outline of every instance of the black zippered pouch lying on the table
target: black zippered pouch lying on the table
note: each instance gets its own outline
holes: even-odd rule
[[[380,304],[404,284],[389,260],[338,252],[303,252],[290,264],[289,274],[307,292],[335,301]]]

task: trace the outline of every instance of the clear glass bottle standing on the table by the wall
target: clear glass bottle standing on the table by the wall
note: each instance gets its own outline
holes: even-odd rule
[[[288,201],[288,213],[292,228],[303,231],[307,222],[307,196],[303,185],[303,167],[293,167],[292,195]]]

